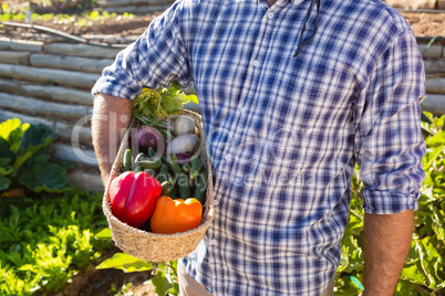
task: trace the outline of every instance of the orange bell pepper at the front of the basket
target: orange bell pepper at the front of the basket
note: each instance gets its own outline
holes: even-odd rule
[[[185,232],[199,226],[203,216],[203,205],[190,198],[173,200],[169,197],[161,197],[156,202],[152,215],[151,226],[154,233],[172,234]]]

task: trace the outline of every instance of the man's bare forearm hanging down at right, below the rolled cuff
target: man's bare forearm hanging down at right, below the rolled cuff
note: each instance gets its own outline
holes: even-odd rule
[[[365,214],[364,295],[393,295],[410,251],[414,212]]]

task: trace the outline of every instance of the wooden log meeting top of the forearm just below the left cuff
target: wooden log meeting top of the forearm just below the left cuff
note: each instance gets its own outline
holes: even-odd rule
[[[93,98],[90,92],[75,88],[38,85],[21,81],[0,78],[0,89],[3,93],[43,98],[45,101],[85,106],[92,106],[93,104]]]

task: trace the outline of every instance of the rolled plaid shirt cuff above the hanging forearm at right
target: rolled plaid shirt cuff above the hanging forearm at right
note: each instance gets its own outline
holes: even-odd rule
[[[417,211],[421,192],[406,194],[391,191],[363,190],[363,208],[370,214],[396,214],[407,210]]]

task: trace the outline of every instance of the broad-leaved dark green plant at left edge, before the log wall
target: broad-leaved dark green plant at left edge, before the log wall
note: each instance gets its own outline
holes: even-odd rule
[[[34,192],[71,190],[66,171],[73,165],[50,161],[55,134],[44,125],[9,119],[0,124],[0,194],[13,188]]]

